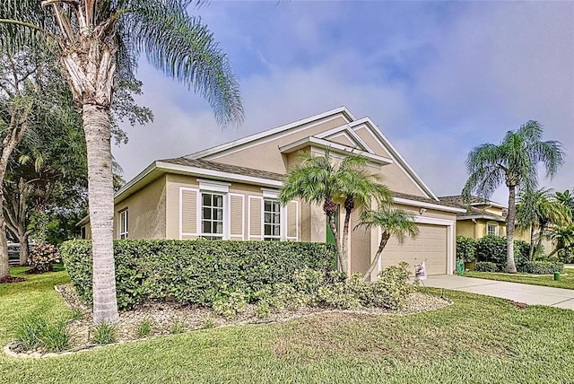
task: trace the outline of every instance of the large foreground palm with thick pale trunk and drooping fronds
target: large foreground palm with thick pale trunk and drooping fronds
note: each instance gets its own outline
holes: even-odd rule
[[[134,79],[138,57],[206,98],[222,126],[243,108],[230,63],[188,0],[4,0],[0,39],[46,39],[59,55],[81,110],[88,158],[93,259],[93,320],[116,322],[110,108],[115,83]],[[22,32],[16,27],[23,27]],[[4,32],[0,31],[0,32]]]

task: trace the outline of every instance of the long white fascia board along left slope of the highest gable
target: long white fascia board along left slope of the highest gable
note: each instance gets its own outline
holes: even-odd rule
[[[216,145],[216,146],[213,146],[211,148],[207,148],[203,151],[199,151],[196,153],[190,153],[190,154],[187,154],[183,157],[186,157],[187,159],[191,159],[191,160],[204,159],[207,156],[213,156],[216,153],[228,151],[234,147],[238,147],[238,146],[243,145],[243,144],[248,144],[251,142],[257,142],[257,141],[265,139],[265,137],[275,135],[275,134],[281,133],[283,131],[290,130],[291,128],[303,126],[303,125],[309,124],[315,120],[319,120],[321,118],[328,118],[329,116],[334,116],[337,114],[343,114],[343,116],[347,120],[347,122],[351,122],[351,121],[354,121],[356,119],[354,116],[352,116],[352,113],[349,111],[349,109],[347,109],[346,107],[339,107],[336,109],[327,110],[326,112],[320,113],[320,114],[315,115],[315,116],[311,116],[309,118],[302,118],[298,121],[294,121],[292,123],[285,124],[285,125],[280,126],[280,127],[268,129],[266,131],[260,132],[260,133],[255,134],[255,135],[248,135],[247,137],[243,137],[243,138],[240,138],[238,140],[234,140],[234,141],[229,142],[229,143]]]

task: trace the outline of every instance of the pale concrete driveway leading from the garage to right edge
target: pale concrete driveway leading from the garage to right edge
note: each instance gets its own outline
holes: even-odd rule
[[[574,290],[544,287],[538,285],[497,282],[459,275],[429,276],[425,286],[455,291],[485,294],[529,305],[541,304],[574,310]]]

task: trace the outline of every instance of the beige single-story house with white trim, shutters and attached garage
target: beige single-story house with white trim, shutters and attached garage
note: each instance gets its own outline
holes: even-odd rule
[[[394,191],[396,206],[416,215],[419,237],[403,246],[389,241],[378,269],[401,260],[411,265],[426,260],[429,274],[451,274],[456,215],[465,209],[441,203],[370,118],[354,118],[344,107],[201,152],[153,161],[117,192],[114,236],[324,242],[329,231],[321,206],[300,201],[281,206],[276,198],[283,176],[300,162],[297,153],[323,154],[327,147],[335,159],[364,155],[368,170]],[[88,219],[80,225],[89,238]],[[378,229],[352,231],[350,272],[368,269],[379,236]],[[377,274],[376,268],[372,278]]]

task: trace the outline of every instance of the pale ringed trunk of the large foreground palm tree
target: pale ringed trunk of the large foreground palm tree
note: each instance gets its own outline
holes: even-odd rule
[[[111,121],[109,109],[84,104],[83,130],[88,153],[88,198],[93,264],[93,321],[117,322],[113,225]]]

